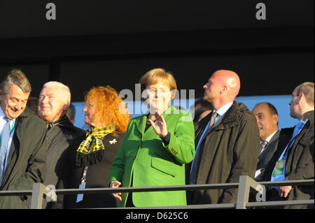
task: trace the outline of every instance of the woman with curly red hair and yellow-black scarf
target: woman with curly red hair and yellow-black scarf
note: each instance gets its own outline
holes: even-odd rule
[[[90,129],[69,148],[69,168],[64,170],[68,174],[59,179],[57,189],[108,187],[111,164],[131,118],[118,92],[110,86],[93,87],[85,95],[85,102],[85,123]],[[50,203],[50,208],[115,206],[111,194],[59,195],[57,203]]]

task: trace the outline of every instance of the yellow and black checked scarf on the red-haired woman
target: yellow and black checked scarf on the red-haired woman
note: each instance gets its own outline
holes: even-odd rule
[[[113,133],[113,131],[115,130],[110,129],[109,127],[90,127],[90,129],[88,129],[86,132],[85,140],[80,143],[80,146],[76,152],[90,154],[91,152],[96,152],[98,150],[105,150],[102,139],[104,136]]]

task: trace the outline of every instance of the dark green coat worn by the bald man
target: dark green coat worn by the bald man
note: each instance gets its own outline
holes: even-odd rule
[[[206,116],[203,120],[209,120],[209,117]],[[205,125],[207,123],[200,123],[202,129],[196,129],[196,137]],[[244,103],[234,101],[232,107],[221,120],[218,120],[201,145],[203,150],[197,184],[239,182],[241,175],[253,178],[257,167],[259,142],[255,116]],[[196,191],[192,203],[236,201],[237,189],[211,189]]]

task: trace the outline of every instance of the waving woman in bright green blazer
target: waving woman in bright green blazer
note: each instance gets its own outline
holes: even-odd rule
[[[148,71],[140,80],[149,113],[130,120],[113,161],[111,187],[185,185],[185,164],[195,154],[190,114],[169,106],[176,81],[163,69]],[[113,194],[118,206],[185,206],[185,191]]]

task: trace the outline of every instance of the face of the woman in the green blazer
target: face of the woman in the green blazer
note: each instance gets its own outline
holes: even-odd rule
[[[151,111],[158,110],[159,113],[163,113],[172,100],[172,92],[169,87],[162,84],[148,85],[147,101]]]

